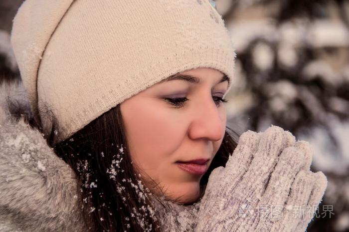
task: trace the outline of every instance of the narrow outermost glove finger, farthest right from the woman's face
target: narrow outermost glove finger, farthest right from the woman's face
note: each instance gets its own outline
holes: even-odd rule
[[[299,222],[295,232],[304,232],[312,221],[327,187],[327,178],[322,172],[313,174],[315,184],[310,195],[305,217]]]

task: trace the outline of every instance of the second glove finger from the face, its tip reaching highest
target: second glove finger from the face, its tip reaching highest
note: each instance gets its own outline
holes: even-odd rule
[[[268,128],[261,137],[258,150],[255,153],[251,165],[239,185],[240,192],[252,207],[256,207],[261,195],[265,191],[266,184],[279,155],[284,150],[289,141],[291,133],[276,126]],[[293,136],[292,136],[293,137]]]

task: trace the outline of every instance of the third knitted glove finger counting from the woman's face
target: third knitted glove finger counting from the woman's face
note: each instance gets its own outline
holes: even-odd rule
[[[281,153],[279,162],[271,174],[267,189],[264,192],[259,205],[284,205],[291,185],[304,164],[304,152],[296,147],[287,147]]]

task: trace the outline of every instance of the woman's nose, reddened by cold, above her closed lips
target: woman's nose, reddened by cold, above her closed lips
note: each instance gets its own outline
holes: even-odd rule
[[[210,101],[202,102],[196,106],[188,128],[189,138],[209,141],[222,139],[226,124],[225,109],[217,108],[212,98]]]

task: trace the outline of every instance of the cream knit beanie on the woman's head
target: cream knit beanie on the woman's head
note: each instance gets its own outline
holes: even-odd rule
[[[187,69],[231,79],[235,53],[210,0],[26,0],[11,43],[34,114],[59,140]]]

